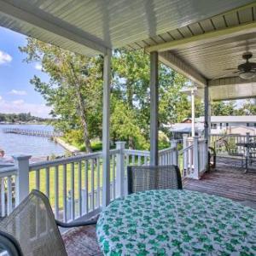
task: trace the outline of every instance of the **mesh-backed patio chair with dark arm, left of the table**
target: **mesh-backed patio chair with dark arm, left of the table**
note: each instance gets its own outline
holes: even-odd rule
[[[96,224],[96,221],[74,221],[65,224],[55,220],[48,198],[38,190],[20,203],[0,223],[0,254],[67,255],[58,226],[72,228]],[[5,254],[4,254],[5,255]]]

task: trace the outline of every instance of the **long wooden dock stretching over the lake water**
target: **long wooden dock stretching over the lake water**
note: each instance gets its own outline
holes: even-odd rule
[[[3,128],[3,133],[14,133],[27,136],[37,137],[61,137],[62,132],[56,131],[44,131],[44,130],[31,130],[31,129],[20,129],[20,128]]]

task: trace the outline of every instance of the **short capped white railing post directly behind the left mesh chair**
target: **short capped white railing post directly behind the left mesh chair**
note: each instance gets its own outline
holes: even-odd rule
[[[19,204],[29,194],[29,159],[31,155],[13,155],[15,166],[18,169],[16,204]]]

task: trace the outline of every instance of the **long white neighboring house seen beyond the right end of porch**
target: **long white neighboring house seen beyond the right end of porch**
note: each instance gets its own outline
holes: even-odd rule
[[[204,123],[204,117],[195,119],[197,123]],[[241,134],[256,135],[256,115],[247,116],[212,116],[212,134]]]

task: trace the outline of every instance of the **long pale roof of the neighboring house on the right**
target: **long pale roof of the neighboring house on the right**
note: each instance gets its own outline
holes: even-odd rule
[[[205,117],[195,119],[196,122],[203,123]],[[256,123],[256,115],[239,115],[239,116],[211,116],[212,123]]]

